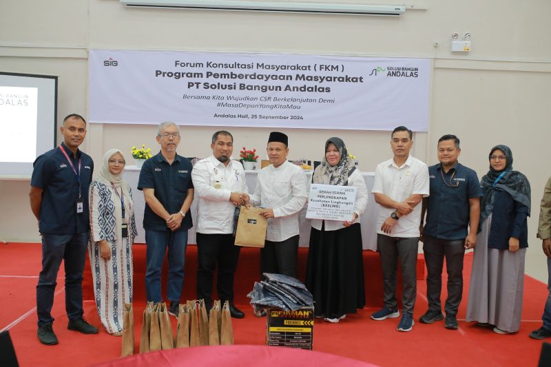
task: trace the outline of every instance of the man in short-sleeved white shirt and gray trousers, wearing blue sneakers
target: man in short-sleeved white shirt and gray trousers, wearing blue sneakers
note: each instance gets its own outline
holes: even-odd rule
[[[428,197],[427,165],[409,155],[413,133],[404,126],[391,134],[392,159],[377,165],[371,192],[379,204],[377,218],[377,251],[383,272],[384,307],[371,315],[384,320],[399,317],[396,300],[397,260],[402,266],[402,319],[397,330],[413,327],[413,306],[417,293],[417,247],[422,198]]]

